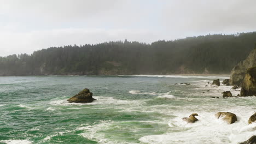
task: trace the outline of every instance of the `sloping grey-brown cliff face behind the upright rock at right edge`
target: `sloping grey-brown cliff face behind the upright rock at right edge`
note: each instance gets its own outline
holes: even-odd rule
[[[249,53],[245,61],[239,62],[232,70],[230,75],[230,85],[240,85],[246,75],[248,68],[256,66],[256,47]]]

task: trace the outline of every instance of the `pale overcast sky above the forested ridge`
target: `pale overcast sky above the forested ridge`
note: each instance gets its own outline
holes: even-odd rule
[[[256,29],[255,0],[0,0],[0,56]]]

